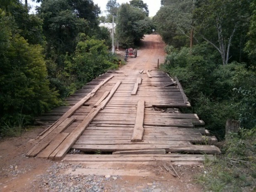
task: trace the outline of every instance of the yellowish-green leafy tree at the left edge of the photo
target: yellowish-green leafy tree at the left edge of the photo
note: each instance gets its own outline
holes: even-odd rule
[[[12,126],[21,113],[33,116],[59,104],[46,78],[43,48],[12,33],[13,26],[13,17],[0,9],[0,126]]]

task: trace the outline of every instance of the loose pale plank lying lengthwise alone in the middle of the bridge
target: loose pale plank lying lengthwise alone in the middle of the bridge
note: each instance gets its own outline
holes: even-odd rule
[[[133,135],[131,141],[142,141],[142,137],[144,134],[144,110],[145,110],[145,101],[139,100],[137,104],[137,112],[136,112],[136,120],[135,126],[133,129]]]

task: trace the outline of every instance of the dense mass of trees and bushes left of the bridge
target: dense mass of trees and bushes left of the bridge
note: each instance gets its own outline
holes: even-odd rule
[[[0,1],[0,135],[17,135],[33,116],[117,67],[92,0],[37,2],[35,15],[19,0]]]

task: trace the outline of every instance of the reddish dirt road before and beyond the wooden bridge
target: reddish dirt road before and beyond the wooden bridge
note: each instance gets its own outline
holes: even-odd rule
[[[122,67],[157,70],[157,60],[164,61],[164,47],[160,36],[146,35],[137,58],[129,57]],[[20,137],[0,141],[0,192],[201,192],[193,181],[202,171],[200,166],[176,166],[178,179],[161,170],[161,162],[69,164],[26,157],[32,147],[28,141],[45,128],[34,127]],[[73,174],[78,168],[95,175]]]

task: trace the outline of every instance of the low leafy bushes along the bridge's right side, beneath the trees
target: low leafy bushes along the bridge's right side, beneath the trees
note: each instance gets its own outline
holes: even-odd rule
[[[239,119],[247,128],[256,125],[256,76],[246,64],[215,64],[215,54],[201,45],[192,51],[167,46],[166,52],[162,69],[178,77],[192,104],[189,112],[197,113],[206,129],[223,139],[227,119]]]

